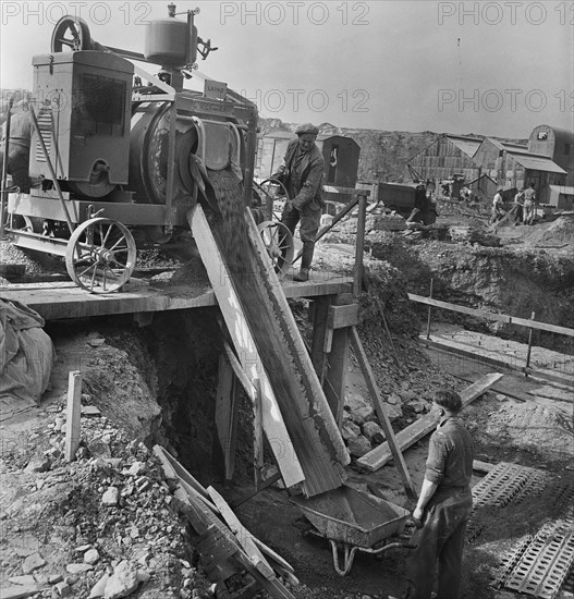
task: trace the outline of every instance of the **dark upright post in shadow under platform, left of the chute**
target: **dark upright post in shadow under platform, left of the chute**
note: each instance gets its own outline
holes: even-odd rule
[[[216,428],[223,453],[225,480],[233,478],[235,469],[235,445],[237,438],[237,394],[235,375],[229,358],[219,356],[219,376],[216,392]]]

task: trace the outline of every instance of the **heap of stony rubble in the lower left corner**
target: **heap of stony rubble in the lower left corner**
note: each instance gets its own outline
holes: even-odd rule
[[[208,597],[157,460],[97,408],[83,411],[75,462],[63,460],[58,405],[4,448],[0,596]]]

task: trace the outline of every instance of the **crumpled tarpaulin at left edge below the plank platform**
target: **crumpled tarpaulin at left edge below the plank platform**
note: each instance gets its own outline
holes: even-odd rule
[[[54,351],[44,318],[25,304],[0,298],[0,405],[40,403]],[[14,403],[16,402],[16,403]],[[3,414],[2,414],[3,415]]]

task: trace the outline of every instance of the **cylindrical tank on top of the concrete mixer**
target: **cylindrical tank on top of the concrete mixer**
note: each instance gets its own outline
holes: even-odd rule
[[[195,42],[194,42],[195,41]],[[164,66],[182,66],[195,62],[197,27],[178,19],[150,21],[146,25],[144,54],[147,60]]]

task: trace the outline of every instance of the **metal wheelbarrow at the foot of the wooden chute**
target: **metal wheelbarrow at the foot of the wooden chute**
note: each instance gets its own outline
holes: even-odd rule
[[[291,501],[315,527],[307,534],[329,540],[333,566],[341,576],[351,572],[357,552],[380,555],[389,549],[416,547],[400,537],[411,513],[370,493],[343,486],[309,499],[294,497]]]

